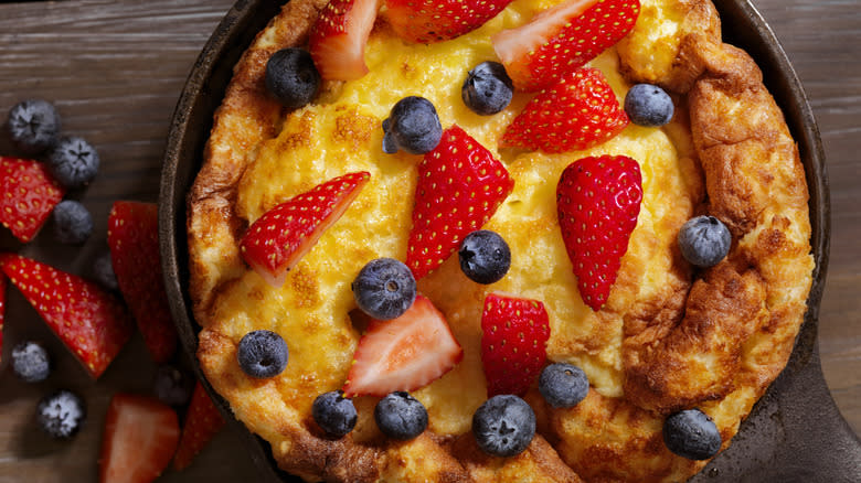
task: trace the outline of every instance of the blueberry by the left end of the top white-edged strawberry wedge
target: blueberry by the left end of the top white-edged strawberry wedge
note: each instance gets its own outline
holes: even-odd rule
[[[508,107],[514,85],[499,62],[482,62],[467,75],[460,88],[464,104],[474,112],[490,116]]]

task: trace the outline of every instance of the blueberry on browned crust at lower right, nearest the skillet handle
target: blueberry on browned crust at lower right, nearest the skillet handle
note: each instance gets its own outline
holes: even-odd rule
[[[685,409],[663,421],[663,443],[689,460],[708,460],[721,450],[721,432],[708,415]]]

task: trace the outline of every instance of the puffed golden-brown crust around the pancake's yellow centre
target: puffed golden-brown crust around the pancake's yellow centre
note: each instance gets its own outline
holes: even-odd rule
[[[219,297],[235,289],[248,270],[237,250],[248,225],[236,208],[238,185],[261,144],[278,136],[288,116],[266,95],[265,63],[278,49],[304,44],[325,4],[288,2],[243,55],[188,197],[190,294],[203,326],[198,357],[213,387],[272,443],[284,470],[308,481],[677,482],[701,470],[706,462],[666,449],[665,416],[694,406],[716,415],[726,448],[786,365],[814,268],[807,185],[795,142],[754,61],[721,41],[712,3],[641,1],[641,18],[671,22],[674,29],[656,34],[638,23],[617,52],[629,82],[659,84],[673,94],[681,108],[677,129],[688,129],[693,140],[692,147],[677,147],[693,161],[689,206],[668,214],[661,226],[678,232],[693,214],[714,215],[733,234],[731,254],[716,267],[695,271],[671,247],[665,282],[648,296],[638,293],[634,262],[624,261],[609,302],[594,314],[607,326],[620,324],[624,394],[593,389],[576,407],[554,409],[532,389],[527,400],[538,415],[539,434],[510,459],[481,453],[468,431],[442,436],[428,430],[410,442],[386,440],[372,420],[362,419],[371,412],[371,398],[355,400],[363,430],[327,439],[307,408],[285,400],[277,379],[251,380],[236,364],[236,339],[222,325]],[[337,86],[325,89],[337,92]],[[353,119],[359,122],[361,116]],[[346,128],[351,142],[370,136],[362,135],[362,125]],[[311,128],[297,132],[289,141],[294,146],[312,142]],[[291,279],[301,296],[296,303],[319,303],[316,273],[302,271]],[[247,297],[264,297],[249,290]],[[468,296],[480,300],[482,293]],[[451,309],[439,303],[444,312]],[[607,337],[596,330],[549,347],[549,357],[595,352],[610,343]],[[349,341],[343,335],[334,343],[349,347]]]

